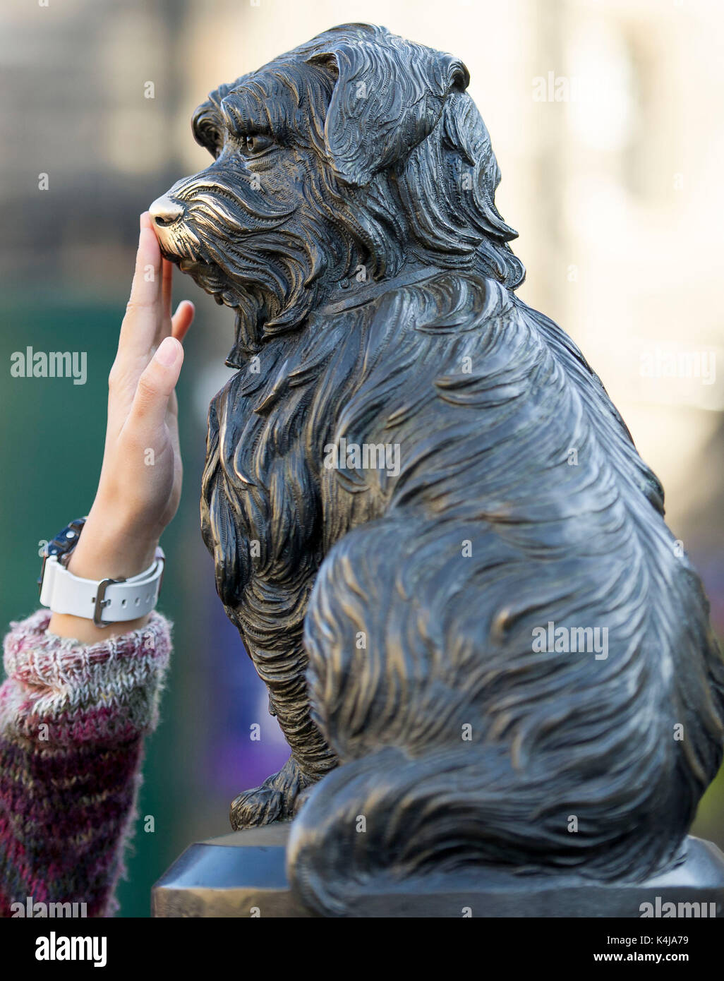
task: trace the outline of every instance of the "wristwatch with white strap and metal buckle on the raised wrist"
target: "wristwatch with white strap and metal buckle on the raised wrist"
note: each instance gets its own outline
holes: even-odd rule
[[[166,558],[156,549],[153,563],[129,579],[81,579],[68,571],[68,560],[78,544],[85,518],[77,518],[43,548],[37,585],[40,603],[53,613],[71,613],[92,620],[96,627],[136,620],[156,606]]]

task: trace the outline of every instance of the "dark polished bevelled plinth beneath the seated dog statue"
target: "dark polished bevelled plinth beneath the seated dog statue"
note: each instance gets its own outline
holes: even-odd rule
[[[286,879],[288,828],[274,824],[191,845],[153,887],[153,915],[311,915],[292,896]],[[690,837],[687,844],[681,864],[642,883],[487,869],[454,882],[431,877],[424,890],[402,887],[367,895],[350,912],[360,917],[724,917],[724,853],[699,838]]]

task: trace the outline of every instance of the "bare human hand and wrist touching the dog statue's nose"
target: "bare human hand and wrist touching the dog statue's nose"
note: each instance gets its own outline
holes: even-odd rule
[[[162,259],[148,213],[140,235],[118,353],[108,379],[108,425],[98,490],[69,570],[84,579],[134,576],[153,561],[161,533],[181,497],[176,384],[181,340],[193,304],[171,316],[173,265]],[[127,633],[138,621],[96,627],[92,620],[54,613],[49,630],[83,643]]]

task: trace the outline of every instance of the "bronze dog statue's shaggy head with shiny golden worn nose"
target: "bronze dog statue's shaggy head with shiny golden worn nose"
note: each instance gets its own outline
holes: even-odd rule
[[[522,282],[468,80],[451,55],[345,25],[196,110],[214,162],[150,211],[165,256],[235,309],[230,365],[350,282],[452,264]]]

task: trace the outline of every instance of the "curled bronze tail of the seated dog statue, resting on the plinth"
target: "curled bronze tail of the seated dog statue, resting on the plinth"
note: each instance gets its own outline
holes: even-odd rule
[[[390,895],[403,901],[430,889],[450,898],[450,907],[439,904],[437,915],[454,917],[468,904],[453,908],[452,897],[469,893],[474,906],[486,868],[578,871],[604,881],[618,870],[622,881],[646,878],[684,854],[681,833],[670,836],[668,819],[656,827],[647,806],[646,779],[655,781],[654,797],[668,798],[665,807],[676,806],[660,774],[648,772],[648,762],[642,784],[638,774],[628,775],[621,787],[622,821],[604,780],[584,792],[598,790],[593,805],[566,788],[556,806],[551,798],[558,775],[546,781],[540,773],[526,781],[513,773],[502,750],[461,746],[411,757],[397,747],[378,749],[338,767],[304,802],[287,847],[289,882],[307,908],[326,917],[388,916]],[[632,822],[637,797],[646,835],[624,826]],[[640,869],[643,874],[632,874]]]

